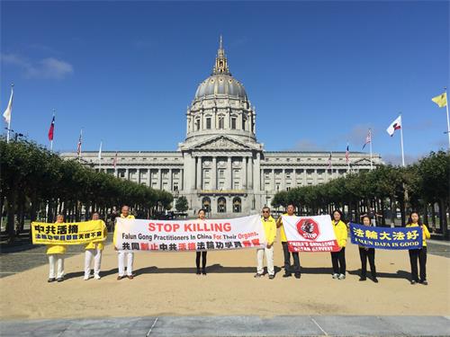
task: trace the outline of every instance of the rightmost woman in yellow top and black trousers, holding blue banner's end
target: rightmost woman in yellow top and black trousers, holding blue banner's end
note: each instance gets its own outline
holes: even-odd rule
[[[431,237],[426,225],[422,224],[419,219],[419,213],[412,211],[407,227],[421,227],[422,228],[422,248],[410,249],[410,263],[411,263],[411,284],[421,283],[424,286],[428,285],[427,280],[427,239]],[[418,260],[420,266],[420,279],[418,276]]]

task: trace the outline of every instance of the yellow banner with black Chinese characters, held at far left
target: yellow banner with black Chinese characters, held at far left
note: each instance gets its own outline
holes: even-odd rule
[[[47,224],[32,222],[33,244],[88,244],[104,241],[103,220]]]

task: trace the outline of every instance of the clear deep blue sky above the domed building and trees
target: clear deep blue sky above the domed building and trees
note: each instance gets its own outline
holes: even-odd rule
[[[231,74],[257,110],[267,151],[361,151],[407,163],[448,146],[449,3],[6,2],[0,108],[54,150],[175,151],[185,111],[223,36]],[[5,127],[5,124],[3,124]],[[2,133],[5,130],[2,129]]]

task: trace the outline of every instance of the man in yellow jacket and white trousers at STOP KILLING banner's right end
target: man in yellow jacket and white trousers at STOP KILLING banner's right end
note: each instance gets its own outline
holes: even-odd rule
[[[275,278],[274,268],[274,242],[276,236],[276,222],[275,218],[270,215],[270,208],[263,208],[263,217],[261,217],[261,223],[264,227],[264,233],[266,235],[266,247],[257,249],[257,273],[256,278],[264,276],[264,255],[266,254],[267,273],[269,279]]]

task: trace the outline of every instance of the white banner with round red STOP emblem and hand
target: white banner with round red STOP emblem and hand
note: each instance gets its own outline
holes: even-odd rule
[[[290,252],[338,252],[331,217],[283,216],[284,233]]]

